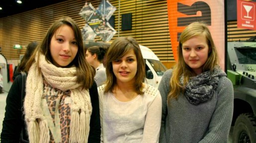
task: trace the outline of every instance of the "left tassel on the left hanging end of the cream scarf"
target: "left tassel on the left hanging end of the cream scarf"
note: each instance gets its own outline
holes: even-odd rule
[[[39,134],[39,126],[36,120],[30,121],[27,125],[29,142],[30,143],[39,143],[40,137]]]

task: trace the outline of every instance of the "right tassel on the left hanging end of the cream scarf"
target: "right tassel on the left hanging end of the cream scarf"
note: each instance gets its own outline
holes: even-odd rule
[[[42,120],[39,123],[40,126],[40,143],[49,143],[50,142],[50,132],[46,120]]]

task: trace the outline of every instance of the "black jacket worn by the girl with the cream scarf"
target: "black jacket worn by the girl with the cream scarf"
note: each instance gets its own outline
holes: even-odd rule
[[[26,124],[22,120],[21,110],[21,74],[13,81],[6,97],[5,114],[2,122],[1,142],[0,143],[19,143],[21,129],[25,130]],[[22,91],[23,92],[23,91]],[[90,121],[90,133],[88,143],[100,143],[101,122],[99,95],[96,82],[89,89],[92,102],[92,115]],[[24,139],[28,141],[27,135]]]

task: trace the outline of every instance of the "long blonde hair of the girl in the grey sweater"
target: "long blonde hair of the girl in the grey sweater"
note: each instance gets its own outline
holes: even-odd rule
[[[192,69],[185,63],[182,55],[182,44],[194,36],[204,35],[209,47],[209,54],[206,63],[203,65],[203,71],[213,71],[218,65],[218,54],[212,35],[207,25],[203,22],[193,22],[189,24],[181,33],[178,46],[178,63],[172,71],[170,78],[170,92],[168,101],[172,98],[177,99],[180,93],[183,93],[184,86],[188,83],[189,77],[194,75]],[[183,84],[180,83],[180,78],[183,76]]]

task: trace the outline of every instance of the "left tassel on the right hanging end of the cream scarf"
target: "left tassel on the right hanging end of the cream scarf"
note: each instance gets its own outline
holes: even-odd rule
[[[77,143],[78,142],[78,134],[79,134],[79,113],[78,111],[73,111],[71,115],[71,123],[70,123],[70,137],[69,143]]]

